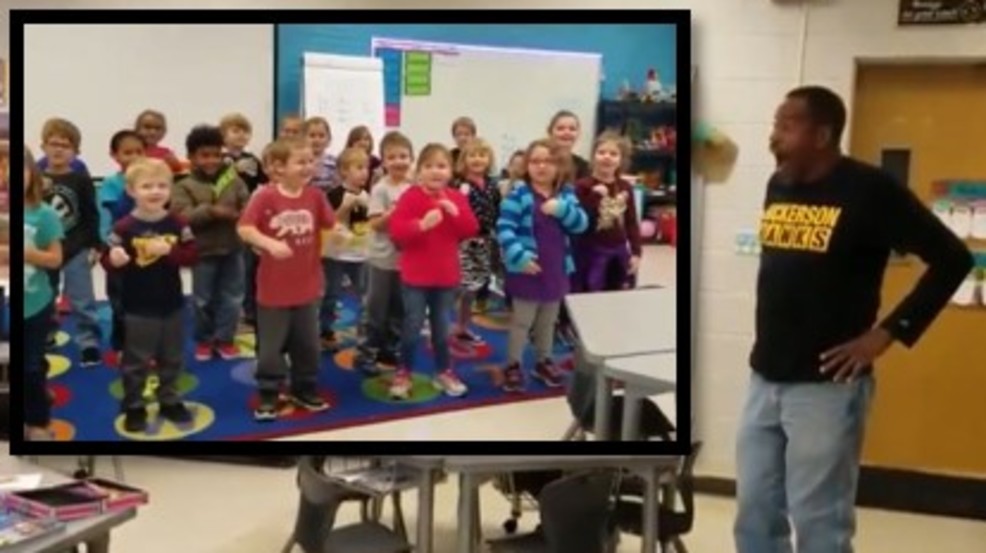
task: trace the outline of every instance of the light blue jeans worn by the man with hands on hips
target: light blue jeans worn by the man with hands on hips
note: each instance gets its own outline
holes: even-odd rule
[[[872,376],[774,383],[754,373],[737,436],[737,553],[852,553]]]

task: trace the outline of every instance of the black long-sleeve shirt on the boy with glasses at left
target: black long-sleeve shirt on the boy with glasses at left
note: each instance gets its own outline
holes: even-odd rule
[[[79,252],[101,249],[99,210],[96,188],[88,173],[45,174],[45,202],[55,208],[62,219],[65,240],[62,242],[66,262]]]

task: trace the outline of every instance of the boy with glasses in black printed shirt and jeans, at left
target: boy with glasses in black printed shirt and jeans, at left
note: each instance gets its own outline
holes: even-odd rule
[[[64,119],[50,119],[41,134],[48,156],[45,202],[62,218],[65,242],[61,276],[65,280],[65,295],[78,321],[76,340],[81,349],[80,363],[83,367],[93,367],[102,362],[101,330],[92,285],[92,267],[103,247],[96,189],[88,174],[73,172],[71,168],[74,152],[79,150],[79,129]],[[58,290],[58,269],[52,270],[49,277]]]

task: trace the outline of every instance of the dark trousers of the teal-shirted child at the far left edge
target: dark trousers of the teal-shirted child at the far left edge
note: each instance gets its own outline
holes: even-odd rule
[[[24,424],[47,427],[51,423],[48,403],[48,360],[45,342],[51,330],[55,304],[24,319]]]

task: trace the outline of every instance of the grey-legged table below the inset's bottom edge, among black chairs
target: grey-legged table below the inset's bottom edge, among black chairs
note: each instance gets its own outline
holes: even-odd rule
[[[502,455],[502,456],[388,456],[421,471],[421,497],[418,500],[418,534],[415,551],[431,553],[433,547],[434,486],[439,471],[459,474],[458,546],[459,553],[479,551],[479,486],[497,474],[536,470],[626,469],[646,483],[641,551],[654,553],[657,547],[657,493],[661,475],[673,484],[678,457],[656,455]],[[665,496],[670,497],[670,496]]]

